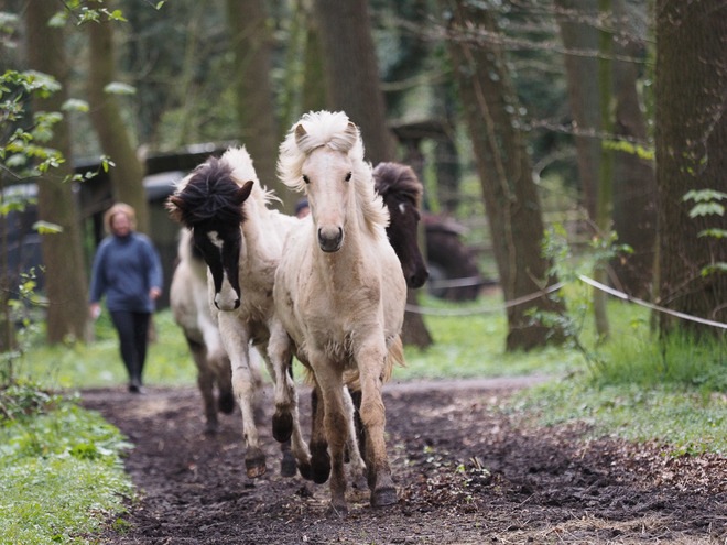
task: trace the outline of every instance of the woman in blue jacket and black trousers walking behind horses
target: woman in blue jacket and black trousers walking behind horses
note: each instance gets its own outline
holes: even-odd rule
[[[104,226],[110,236],[101,241],[94,259],[89,312],[98,317],[106,294],[129,372],[129,391],[141,393],[149,318],[162,294],[162,265],[149,237],[134,231],[135,214],[129,205],[113,205],[104,216]]]

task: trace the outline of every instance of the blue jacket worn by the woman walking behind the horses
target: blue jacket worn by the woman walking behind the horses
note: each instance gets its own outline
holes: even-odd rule
[[[162,264],[149,237],[133,231],[123,238],[106,237],[94,259],[89,303],[98,303],[106,293],[111,312],[153,313],[152,287],[162,288]]]

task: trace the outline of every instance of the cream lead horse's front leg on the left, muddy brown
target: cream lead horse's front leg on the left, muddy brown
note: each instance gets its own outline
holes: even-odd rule
[[[323,353],[318,356],[323,356]],[[344,406],[344,381],[340,371],[326,361],[325,356],[314,358],[314,355],[311,355],[311,364],[315,371],[319,393],[323,395],[324,425],[330,450],[330,505],[335,514],[345,517],[348,515],[344,467],[348,418]]]

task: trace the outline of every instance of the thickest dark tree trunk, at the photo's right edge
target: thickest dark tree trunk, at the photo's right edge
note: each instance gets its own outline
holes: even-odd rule
[[[727,6],[659,0],[657,14],[659,296],[669,308],[727,321],[727,274],[701,274],[709,263],[727,262],[727,243],[698,237],[724,228],[724,218],[692,219],[694,201],[682,200],[691,189],[727,193]],[[674,318],[660,318],[662,333],[676,326]]]

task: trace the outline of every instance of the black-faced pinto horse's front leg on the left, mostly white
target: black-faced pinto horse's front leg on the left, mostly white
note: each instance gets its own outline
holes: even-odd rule
[[[232,389],[242,411],[245,437],[245,467],[248,477],[254,479],[265,472],[265,455],[260,448],[260,437],[254,424],[254,374],[250,368],[250,335],[243,324],[230,313],[219,313],[219,336],[232,367]]]

